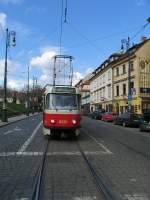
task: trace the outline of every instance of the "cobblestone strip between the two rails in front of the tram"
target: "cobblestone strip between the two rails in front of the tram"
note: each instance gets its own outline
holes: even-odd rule
[[[79,152],[76,140],[52,141],[47,154],[40,199],[104,199]]]

